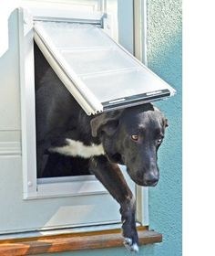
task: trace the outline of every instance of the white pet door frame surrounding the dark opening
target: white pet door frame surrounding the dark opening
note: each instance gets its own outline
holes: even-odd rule
[[[41,15],[41,16],[39,16]],[[110,16],[109,16],[110,17]],[[71,197],[108,193],[95,176],[36,178],[36,116],[34,83],[34,24],[38,20],[85,23],[106,26],[110,22],[103,12],[72,12],[48,9],[19,9],[20,80],[22,101],[22,155],[24,198]],[[107,26],[108,27],[108,26]],[[115,33],[107,28],[107,33]]]

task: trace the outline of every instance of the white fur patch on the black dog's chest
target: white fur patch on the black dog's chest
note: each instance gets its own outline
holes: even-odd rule
[[[102,144],[85,145],[82,142],[66,139],[67,145],[61,147],[51,147],[50,152],[68,156],[80,156],[90,158],[96,155],[105,155]]]

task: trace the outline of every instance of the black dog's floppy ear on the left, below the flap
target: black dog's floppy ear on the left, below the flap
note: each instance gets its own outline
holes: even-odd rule
[[[97,137],[98,131],[113,135],[118,128],[118,118],[123,111],[101,113],[90,121],[92,136]]]

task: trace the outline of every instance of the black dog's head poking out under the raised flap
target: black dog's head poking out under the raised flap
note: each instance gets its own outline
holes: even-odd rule
[[[92,135],[100,138],[109,161],[127,165],[133,181],[148,187],[159,181],[157,152],[167,126],[162,112],[149,103],[91,120]]]

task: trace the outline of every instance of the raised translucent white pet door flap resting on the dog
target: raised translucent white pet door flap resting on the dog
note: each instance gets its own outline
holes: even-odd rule
[[[95,25],[36,21],[35,40],[88,115],[158,101],[175,93]]]

